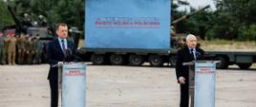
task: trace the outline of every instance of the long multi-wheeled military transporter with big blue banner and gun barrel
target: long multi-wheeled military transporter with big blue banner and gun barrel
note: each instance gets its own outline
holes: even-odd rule
[[[139,66],[149,62],[151,66],[163,63],[174,66],[177,45],[184,40],[185,34],[171,39],[170,33],[175,31],[170,30],[170,25],[209,6],[171,23],[170,15],[166,15],[170,13],[170,4],[169,0],[86,1],[85,45],[79,49],[79,55],[93,64]],[[205,51],[205,54],[210,60],[220,61],[217,68],[238,64],[247,69],[256,62],[256,52]]]

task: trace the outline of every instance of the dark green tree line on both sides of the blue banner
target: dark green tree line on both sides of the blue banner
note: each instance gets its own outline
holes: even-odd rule
[[[178,1],[178,2],[174,2]],[[177,33],[193,33],[202,39],[256,40],[256,1],[255,0],[213,0],[216,10],[205,9],[174,25]],[[31,15],[36,20],[43,15],[47,23],[64,22],[71,27],[84,30],[85,0],[9,0],[13,11],[22,16]],[[172,21],[188,13],[178,10],[189,6],[181,0],[172,0]],[[198,9],[190,7],[191,11]],[[4,0],[0,0],[0,28],[14,25]]]

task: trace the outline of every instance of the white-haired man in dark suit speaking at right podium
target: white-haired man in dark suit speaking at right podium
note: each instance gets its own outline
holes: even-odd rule
[[[176,76],[181,84],[180,107],[188,107],[189,105],[189,67],[182,65],[182,63],[198,60],[203,57],[203,54],[203,49],[197,47],[197,38],[192,34],[187,35],[186,46],[177,52],[176,59]],[[192,104],[193,101],[191,102],[191,107],[193,107]]]

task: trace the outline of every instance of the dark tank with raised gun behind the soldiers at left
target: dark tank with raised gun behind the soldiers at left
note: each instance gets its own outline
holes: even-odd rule
[[[15,23],[15,25],[3,27],[2,31],[4,32],[4,35],[8,35],[9,33],[15,33],[17,35],[19,34],[25,34],[27,40],[31,39],[38,39],[39,43],[42,43],[43,46],[37,45],[34,50],[38,50],[38,48],[42,48],[42,56],[40,56],[41,61],[45,62],[45,45],[53,40],[55,36],[54,27],[47,26],[46,19],[44,16],[39,15],[37,22],[32,22],[29,19],[29,16],[27,13],[24,14],[24,17],[18,17],[12,10],[11,6],[8,2],[6,2],[7,8],[11,13],[11,17]],[[77,47],[78,40],[79,40],[79,34],[81,33],[79,30],[77,30],[76,27],[71,27],[69,29],[70,36],[68,39],[75,42],[75,45]],[[38,42],[36,41],[36,42]],[[29,47],[29,46],[27,46]],[[34,55],[36,56],[36,55]],[[39,63],[39,62],[35,62]]]

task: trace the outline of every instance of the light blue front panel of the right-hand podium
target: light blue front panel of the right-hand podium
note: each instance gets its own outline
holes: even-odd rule
[[[215,107],[216,62],[195,63],[194,107]]]

